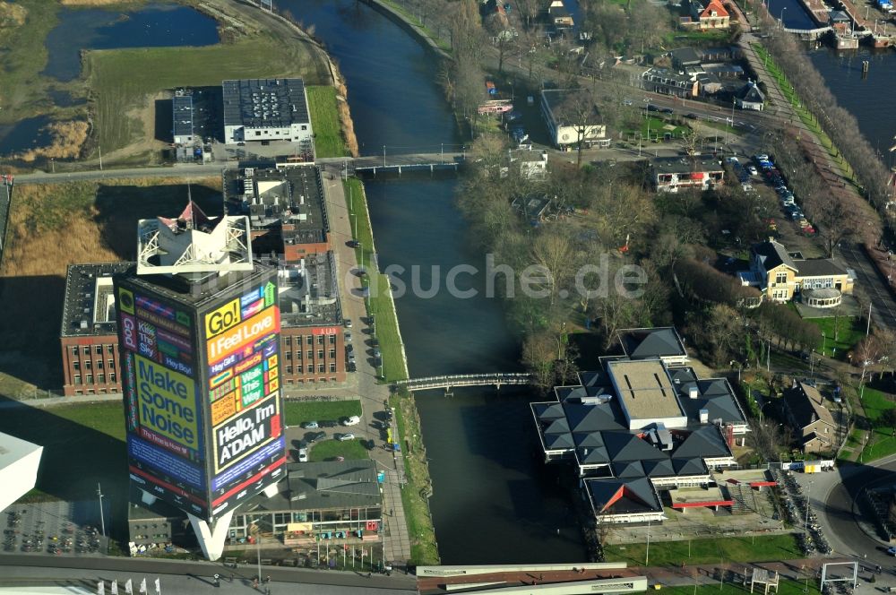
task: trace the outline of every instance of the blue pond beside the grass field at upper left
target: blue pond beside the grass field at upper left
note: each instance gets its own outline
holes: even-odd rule
[[[58,18],[47,35],[42,74],[64,82],[81,73],[82,49],[211,46],[219,41],[214,19],[177,4],[149,4],[128,13],[64,8]]]

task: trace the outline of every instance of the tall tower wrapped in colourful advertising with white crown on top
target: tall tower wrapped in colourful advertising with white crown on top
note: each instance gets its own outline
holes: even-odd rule
[[[239,504],[284,476],[277,272],[253,262],[246,217],[192,201],[137,231],[114,278],[130,477],[214,560]]]

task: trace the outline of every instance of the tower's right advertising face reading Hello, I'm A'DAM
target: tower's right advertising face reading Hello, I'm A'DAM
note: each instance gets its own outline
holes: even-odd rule
[[[280,308],[267,282],[202,315],[215,514],[280,477]]]

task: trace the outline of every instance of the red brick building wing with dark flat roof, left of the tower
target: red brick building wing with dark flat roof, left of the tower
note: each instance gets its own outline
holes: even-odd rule
[[[121,392],[112,275],[133,265],[68,267],[60,333],[65,396]]]

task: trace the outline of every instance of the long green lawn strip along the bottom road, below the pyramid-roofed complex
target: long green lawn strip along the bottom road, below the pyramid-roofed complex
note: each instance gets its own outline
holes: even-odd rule
[[[788,560],[803,557],[793,535],[762,535],[756,537],[731,535],[716,539],[691,539],[691,556],[688,540],[651,541],[651,566],[681,566],[724,562],[762,562]],[[614,544],[604,547],[607,562],[628,562],[644,565],[647,546],[644,543]]]

